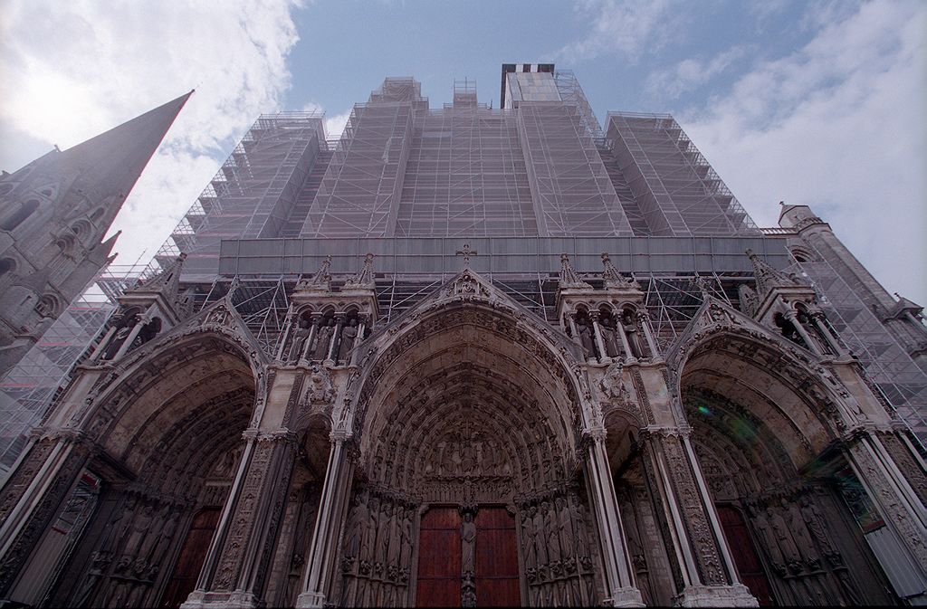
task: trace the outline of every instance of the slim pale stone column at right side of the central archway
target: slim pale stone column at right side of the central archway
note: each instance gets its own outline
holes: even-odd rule
[[[637,589],[634,581],[621,514],[618,513],[604,435],[604,430],[599,430],[591,432],[587,437],[589,446],[585,463],[592,515],[599,531],[602,550],[606,595],[603,604],[612,607],[642,607],[641,590]]]

